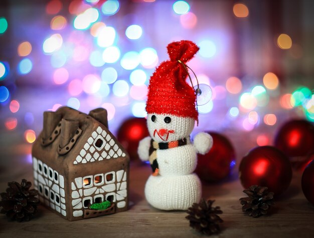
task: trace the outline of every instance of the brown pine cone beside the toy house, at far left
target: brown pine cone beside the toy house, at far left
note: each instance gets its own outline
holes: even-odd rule
[[[37,211],[39,200],[35,196],[38,195],[38,191],[36,189],[29,190],[32,183],[26,179],[22,179],[21,184],[9,182],[8,186],[7,192],[0,194],[2,198],[0,206],[3,207],[1,213],[5,213],[17,221],[29,221]]]

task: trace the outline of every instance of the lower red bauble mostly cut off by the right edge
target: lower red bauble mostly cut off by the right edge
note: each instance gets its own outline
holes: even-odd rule
[[[306,199],[314,205],[314,160],[303,171],[302,191]]]

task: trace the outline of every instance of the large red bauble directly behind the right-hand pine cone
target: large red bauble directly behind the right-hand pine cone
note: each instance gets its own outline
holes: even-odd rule
[[[265,186],[275,195],[279,195],[291,182],[291,163],[275,147],[256,147],[243,157],[239,166],[239,177],[244,188],[251,185]]]

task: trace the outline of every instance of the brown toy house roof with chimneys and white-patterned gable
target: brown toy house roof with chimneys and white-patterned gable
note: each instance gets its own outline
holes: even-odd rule
[[[72,164],[128,157],[104,125],[107,122],[104,115],[107,115],[105,109],[95,109],[87,115],[69,107],[44,114],[44,128],[34,144],[33,154],[44,152],[50,160],[62,156]]]

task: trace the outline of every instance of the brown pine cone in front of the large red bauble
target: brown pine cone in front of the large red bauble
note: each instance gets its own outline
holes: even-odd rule
[[[242,197],[241,201],[242,211],[249,213],[250,216],[258,217],[265,215],[268,208],[274,205],[274,193],[268,192],[267,187],[258,185],[250,186],[248,189],[243,190],[248,197]]]

